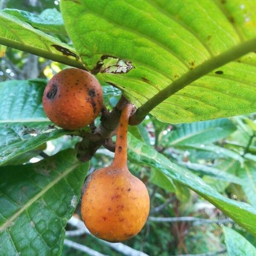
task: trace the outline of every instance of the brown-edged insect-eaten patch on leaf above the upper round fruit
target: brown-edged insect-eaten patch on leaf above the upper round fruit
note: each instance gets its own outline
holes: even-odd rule
[[[131,61],[125,61],[109,55],[103,55],[98,61],[96,67],[92,70],[92,73],[128,73],[133,68],[134,66],[131,64]]]

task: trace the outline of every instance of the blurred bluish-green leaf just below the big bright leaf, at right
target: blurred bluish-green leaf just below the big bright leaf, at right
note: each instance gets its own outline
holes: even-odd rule
[[[176,125],[161,143],[165,146],[186,144],[209,144],[223,139],[236,130],[229,119],[214,119],[204,122]]]

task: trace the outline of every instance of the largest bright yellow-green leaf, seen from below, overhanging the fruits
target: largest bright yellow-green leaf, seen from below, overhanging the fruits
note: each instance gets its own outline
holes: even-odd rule
[[[61,0],[86,67],[140,107],[139,120],[151,111],[171,123],[256,110],[255,10],[251,0]]]

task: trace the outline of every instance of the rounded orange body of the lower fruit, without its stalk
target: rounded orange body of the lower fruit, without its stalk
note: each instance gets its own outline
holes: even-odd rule
[[[81,214],[90,232],[106,241],[136,236],[149,213],[148,190],[128,169],[108,166],[88,177]]]

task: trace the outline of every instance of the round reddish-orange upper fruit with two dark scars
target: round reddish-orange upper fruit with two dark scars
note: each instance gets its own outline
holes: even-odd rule
[[[85,70],[68,68],[48,82],[43,107],[48,118],[61,128],[76,130],[93,122],[103,105],[102,87]]]

